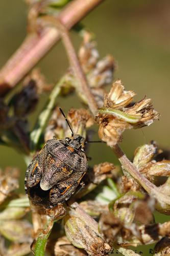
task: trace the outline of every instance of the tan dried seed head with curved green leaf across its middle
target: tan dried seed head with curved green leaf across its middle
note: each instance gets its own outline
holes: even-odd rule
[[[116,80],[105,95],[104,106],[99,109],[95,121],[100,125],[99,137],[109,146],[122,141],[125,129],[147,126],[159,118],[158,112],[152,108],[151,99],[144,98],[130,106],[134,95],[133,91],[125,91],[120,80]]]

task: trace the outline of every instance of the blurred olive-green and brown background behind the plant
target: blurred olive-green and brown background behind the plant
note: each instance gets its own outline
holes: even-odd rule
[[[161,114],[160,121],[151,126],[124,133],[122,148],[130,158],[137,146],[151,140],[162,148],[169,147],[169,11],[168,0],[106,0],[83,19],[83,24],[96,35],[101,57],[108,53],[115,57],[118,69],[114,79],[122,79],[127,90],[134,90],[136,100],[145,95],[152,98],[155,109]],[[23,0],[1,0],[0,20],[0,67],[3,67],[26,36],[27,5]],[[71,36],[78,49],[81,38],[75,32],[71,32]],[[68,67],[61,42],[37,66],[49,82],[57,82]],[[58,102],[65,112],[70,107],[80,106],[74,95],[60,98]],[[94,138],[98,138],[97,132]],[[0,146],[0,153],[2,168],[11,165],[21,169],[23,191],[22,178],[27,166],[22,156],[5,146]],[[91,145],[88,155],[92,157],[91,165],[103,161],[118,163],[105,144]]]

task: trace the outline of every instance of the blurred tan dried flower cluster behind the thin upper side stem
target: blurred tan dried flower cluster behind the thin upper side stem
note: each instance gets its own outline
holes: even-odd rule
[[[100,55],[96,49],[96,42],[92,39],[92,33],[83,31],[83,43],[80,47],[78,57],[82,69],[86,75],[87,81],[91,88],[91,92],[99,107],[103,105],[104,95],[106,93],[105,87],[113,80],[113,72],[115,70],[115,60],[111,55],[99,59]],[[84,103],[88,103],[85,95],[80,90],[79,83],[75,78],[71,69],[68,69],[64,76],[62,93],[65,95],[76,89],[79,97]]]

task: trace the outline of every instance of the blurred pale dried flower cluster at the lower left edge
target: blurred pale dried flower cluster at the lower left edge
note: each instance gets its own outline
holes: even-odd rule
[[[30,252],[30,244],[33,241],[32,225],[23,219],[30,210],[25,196],[15,194],[19,187],[20,172],[17,168],[7,167],[0,173],[0,254],[24,255]],[[22,206],[20,205],[22,203]],[[10,247],[6,247],[5,238],[10,241]]]

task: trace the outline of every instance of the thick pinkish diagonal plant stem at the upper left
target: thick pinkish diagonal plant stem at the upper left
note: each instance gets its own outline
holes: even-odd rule
[[[104,0],[74,0],[58,15],[70,29]],[[60,39],[56,28],[44,28],[40,34],[31,33],[0,71],[0,95],[13,88]]]

